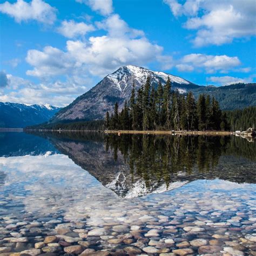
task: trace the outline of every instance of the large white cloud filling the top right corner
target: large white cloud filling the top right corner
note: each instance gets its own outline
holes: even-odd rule
[[[174,16],[187,16],[187,29],[197,30],[192,42],[195,46],[231,43],[234,38],[256,35],[256,4],[236,0],[164,0]]]

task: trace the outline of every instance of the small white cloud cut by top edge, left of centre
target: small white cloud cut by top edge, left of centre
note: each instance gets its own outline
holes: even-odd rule
[[[102,15],[110,15],[113,12],[112,0],[76,0],[76,2],[85,3]]]

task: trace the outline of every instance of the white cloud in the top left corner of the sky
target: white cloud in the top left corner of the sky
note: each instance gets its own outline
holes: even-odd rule
[[[27,3],[17,0],[16,3],[0,4],[0,11],[15,18],[16,22],[35,20],[45,24],[53,24],[56,19],[56,9],[43,0],[32,0]]]

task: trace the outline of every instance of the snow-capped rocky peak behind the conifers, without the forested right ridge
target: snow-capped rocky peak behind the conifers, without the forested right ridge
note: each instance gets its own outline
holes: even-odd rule
[[[157,85],[159,81],[164,84],[167,78],[170,77],[172,88],[178,89],[180,92],[200,87],[181,77],[164,72],[151,71],[132,65],[122,66],[111,75],[104,77],[90,91],[79,96],[70,105],[60,110],[51,121],[102,119],[106,111],[113,111],[114,103],[118,102],[121,108],[124,101],[130,99],[133,82],[136,89],[138,89],[145,84],[148,76],[151,77],[151,82],[154,85]]]

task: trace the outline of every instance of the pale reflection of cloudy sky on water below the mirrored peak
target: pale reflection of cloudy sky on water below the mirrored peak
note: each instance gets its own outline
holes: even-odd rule
[[[149,202],[150,211],[156,212],[186,207],[194,211],[228,211],[234,205],[239,207],[241,198],[244,206],[252,205],[256,191],[255,184],[197,180],[166,193],[123,199],[63,154],[0,157],[0,170],[6,174],[4,186],[0,186],[1,200],[12,205],[22,203],[26,212],[35,215],[62,213],[66,219],[89,215],[87,223],[91,225],[107,221],[129,223],[131,215],[143,217],[140,209]],[[4,210],[8,214],[9,210]]]

